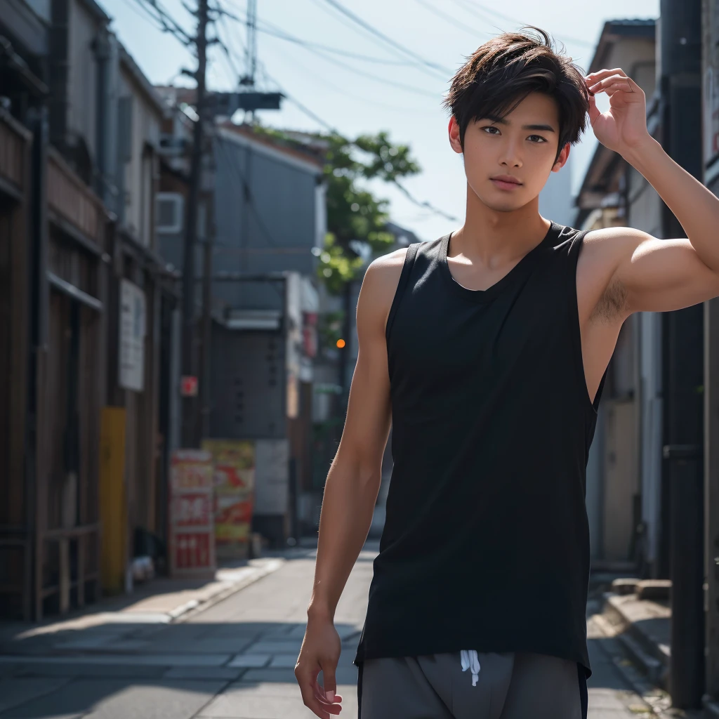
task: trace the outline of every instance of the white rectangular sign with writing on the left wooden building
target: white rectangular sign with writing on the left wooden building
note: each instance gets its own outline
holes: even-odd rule
[[[145,293],[129,280],[120,280],[118,383],[135,392],[145,389],[145,316]]]

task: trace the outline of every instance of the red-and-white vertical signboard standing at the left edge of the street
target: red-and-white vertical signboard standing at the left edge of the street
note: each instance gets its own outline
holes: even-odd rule
[[[216,569],[212,455],[175,449],[170,459],[170,569],[175,577]]]

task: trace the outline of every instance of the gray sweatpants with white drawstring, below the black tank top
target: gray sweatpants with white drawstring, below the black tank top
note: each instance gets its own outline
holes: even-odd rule
[[[480,670],[475,686],[470,671],[462,670],[459,651],[366,659],[359,687],[359,719],[586,716],[584,670],[574,661],[523,652],[479,653],[477,658]]]

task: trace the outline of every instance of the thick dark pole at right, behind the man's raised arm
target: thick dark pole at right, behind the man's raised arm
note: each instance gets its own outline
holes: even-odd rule
[[[702,162],[701,0],[661,0],[661,117],[664,149],[699,180]],[[684,230],[664,206],[662,234]],[[702,305],[664,314],[664,463],[669,489],[672,578],[672,706],[701,707],[704,685]]]

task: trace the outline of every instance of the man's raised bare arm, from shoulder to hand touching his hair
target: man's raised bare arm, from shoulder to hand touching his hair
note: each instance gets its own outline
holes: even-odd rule
[[[681,309],[719,295],[719,199],[677,165],[646,129],[646,99],[621,68],[587,76],[605,92],[601,114],[590,97],[590,121],[599,141],[633,165],[682,224],[687,238],[659,240],[626,227],[587,234],[587,265],[605,281],[600,304],[626,316],[634,311]],[[591,280],[590,280],[591,281]]]

